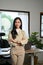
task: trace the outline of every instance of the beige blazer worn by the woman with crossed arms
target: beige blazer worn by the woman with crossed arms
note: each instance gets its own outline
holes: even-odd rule
[[[9,41],[10,39],[12,39],[11,32],[9,32],[8,41]],[[16,36],[16,39],[15,39],[15,40],[16,40],[16,41],[21,41],[21,44],[22,44],[22,45],[25,45],[25,44],[27,44],[27,42],[28,42],[28,38],[27,38],[25,32],[24,32],[23,30],[21,30],[21,29],[19,30],[19,33],[18,33],[18,35]],[[10,43],[10,45],[17,46],[16,43],[12,43],[12,42],[10,42],[10,41],[9,41],[9,43]]]

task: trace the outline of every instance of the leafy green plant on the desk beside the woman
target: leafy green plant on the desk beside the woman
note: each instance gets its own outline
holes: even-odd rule
[[[32,45],[35,45],[36,48],[43,48],[42,40],[38,38],[38,32],[32,32],[28,40]]]

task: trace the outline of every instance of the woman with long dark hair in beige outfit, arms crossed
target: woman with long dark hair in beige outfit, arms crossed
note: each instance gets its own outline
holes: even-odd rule
[[[28,39],[22,30],[22,20],[16,17],[13,22],[13,29],[8,35],[11,48],[12,65],[23,65],[25,50],[24,46]]]

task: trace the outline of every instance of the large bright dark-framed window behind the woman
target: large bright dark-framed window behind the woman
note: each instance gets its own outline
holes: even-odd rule
[[[14,11],[0,9],[0,32],[6,35],[3,38],[8,38],[8,33],[12,29],[13,20],[15,17],[20,17],[22,20],[22,29],[27,36],[30,35],[30,13],[27,11]]]

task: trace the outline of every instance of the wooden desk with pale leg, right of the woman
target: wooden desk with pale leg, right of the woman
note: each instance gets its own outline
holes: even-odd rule
[[[31,55],[31,65],[34,65],[34,54],[41,53],[41,52],[43,52],[42,49],[30,49],[25,51],[26,54],[28,53]]]

